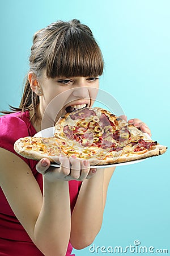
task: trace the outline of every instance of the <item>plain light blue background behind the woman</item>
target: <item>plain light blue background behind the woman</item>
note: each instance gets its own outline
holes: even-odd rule
[[[0,109],[7,109],[8,103],[19,104],[33,33],[58,19],[72,18],[91,27],[103,51],[101,89],[117,99],[129,119],[145,121],[152,138],[169,146],[168,0],[3,1]],[[145,162],[117,168],[96,246],[125,248],[139,240],[141,246],[168,249],[170,255],[168,159],[169,150]],[[80,256],[104,254],[92,254],[89,247],[74,252]]]

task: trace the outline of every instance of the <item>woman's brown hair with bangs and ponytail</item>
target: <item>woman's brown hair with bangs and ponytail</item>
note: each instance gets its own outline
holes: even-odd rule
[[[88,77],[100,76],[104,61],[90,28],[73,19],[70,22],[58,20],[35,33],[29,66],[29,71],[34,72],[37,77],[40,77],[44,68],[49,78]],[[27,78],[19,108],[10,108],[13,112],[33,110],[37,119],[38,104],[39,96],[32,92]]]

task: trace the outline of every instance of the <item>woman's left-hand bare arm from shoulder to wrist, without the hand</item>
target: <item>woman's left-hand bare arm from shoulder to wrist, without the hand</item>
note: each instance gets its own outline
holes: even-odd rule
[[[71,224],[68,182],[44,179],[42,197],[32,171],[22,159],[0,148],[0,160],[1,187],[32,241],[45,255],[65,255]]]

